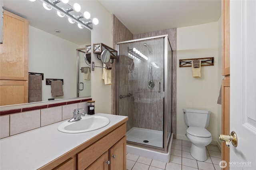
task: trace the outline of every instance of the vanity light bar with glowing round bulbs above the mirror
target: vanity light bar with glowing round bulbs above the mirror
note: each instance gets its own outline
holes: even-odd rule
[[[35,1],[35,0],[30,0],[30,1]],[[84,28],[86,27],[89,30],[92,30],[92,27],[89,26],[90,24],[94,24],[97,25],[99,23],[99,20],[97,18],[93,18],[92,20],[90,19],[91,15],[89,12],[84,12],[81,13],[81,6],[78,3],[74,3],[73,6],[71,6],[70,4],[68,4],[68,0],[53,0],[52,2],[50,0],[38,0],[43,2],[43,6],[46,10],[51,10],[52,8],[54,10],[57,11],[57,15],[60,17],[68,17],[68,21],[70,23],[78,23],[78,27],[79,28]],[[63,4],[68,4],[68,6],[70,6],[70,8],[68,8],[67,10],[64,10],[64,8],[60,8],[58,6],[58,4],[60,3]],[[72,14],[70,14],[72,12]],[[75,14],[76,12],[76,14]],[[82,21],[81,19],[85,18],[88,21]]]

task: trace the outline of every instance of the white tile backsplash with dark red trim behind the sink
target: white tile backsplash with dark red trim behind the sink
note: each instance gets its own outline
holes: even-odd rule
[[[87,113],[87,102],[67,102],[66,104],[60,103],[47,107],[27,107],[21,109],[21,112],[17,111],[17,113],[10,110],[9,114],[3,111],[4,114],[0,116],[0,139],[70,119],[73,116],[73,110],[78,108],[86,109]]]

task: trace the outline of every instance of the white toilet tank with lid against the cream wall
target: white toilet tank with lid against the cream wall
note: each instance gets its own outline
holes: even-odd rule
[[[183,117],[186,125],[206,128],[210,122],[210,111],[198,109],[183,109]]]

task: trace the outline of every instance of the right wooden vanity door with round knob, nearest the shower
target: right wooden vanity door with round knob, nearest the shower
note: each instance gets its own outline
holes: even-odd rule
[[[110,170],[126,170],[126,136],[109,150]]]

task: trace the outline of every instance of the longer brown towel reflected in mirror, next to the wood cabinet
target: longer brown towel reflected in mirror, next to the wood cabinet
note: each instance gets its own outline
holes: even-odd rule
[[[42,76],[28,75],[28,103],[42,102]]]

